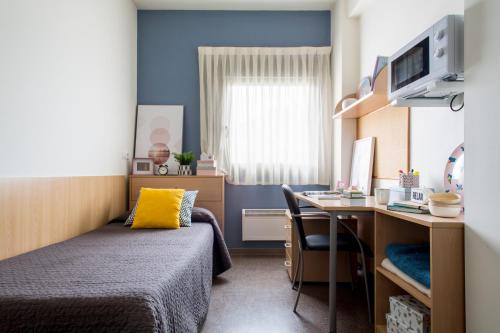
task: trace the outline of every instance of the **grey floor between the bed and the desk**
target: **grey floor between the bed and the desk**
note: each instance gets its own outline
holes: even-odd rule
[[[328,285],[304,284],[298,314],[296,291],[280,257],[233,257],[234,267],[214,281],[203,333],[327,332]],[[362,287],[337,287],[337,332],[372,332]]]

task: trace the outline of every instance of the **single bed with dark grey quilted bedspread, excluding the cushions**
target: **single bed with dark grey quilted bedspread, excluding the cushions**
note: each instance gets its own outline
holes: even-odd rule
[[[0,332],[197,332],[231,267],[213,214],[192,227],[110,223],[0,261]]]

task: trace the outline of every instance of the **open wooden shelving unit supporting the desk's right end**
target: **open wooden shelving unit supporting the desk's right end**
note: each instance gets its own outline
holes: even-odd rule
[[[431,295],[381,266],[391,243],[430,243]],[[444,219],[375,209],[375,333],[387,332],[389,297],[409,294],[430,309],[432,333],[465,332],[463,215]]]

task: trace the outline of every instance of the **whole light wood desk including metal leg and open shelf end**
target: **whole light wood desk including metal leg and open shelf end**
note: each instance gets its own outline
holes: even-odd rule
[[[387,210],[373,197],[365,206],[342,206],[340,200],[318,200],[296,193],[298,200],[330,213],[330,286],[336,285],[337,215],[374,214],[375,331],[386,332],[389,296],[407,293],[431,310],[433,333],[465,331],[464,216],[440,218]],[[430,243],[431,296],[418,291],[380,266],[389,243]],[[330,332],[336,332],[336,288],[329,288]]]

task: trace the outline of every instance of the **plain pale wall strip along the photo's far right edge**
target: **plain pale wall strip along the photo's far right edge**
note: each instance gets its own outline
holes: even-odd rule
[[[500,1],[466,0],[465,292],[467,331],[500,330]]]

